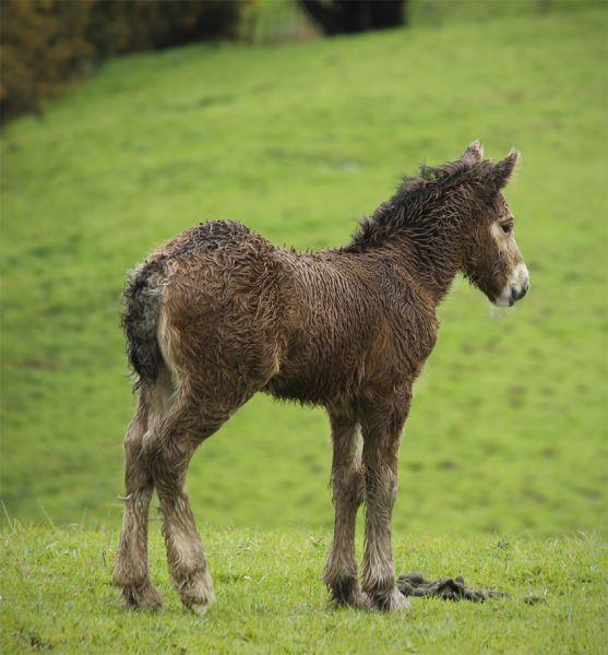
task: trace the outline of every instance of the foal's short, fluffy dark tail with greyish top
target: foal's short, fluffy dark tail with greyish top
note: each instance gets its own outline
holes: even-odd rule
[[[134,389],[153,385],[163,361],[156,335],[166,281],[164,263],[163,259],[147,260],[129,275],[124,286],[122,329]]]

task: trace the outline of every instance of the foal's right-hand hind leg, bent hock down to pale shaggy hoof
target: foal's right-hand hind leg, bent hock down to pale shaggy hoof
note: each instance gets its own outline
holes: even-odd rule
[[[145,443],[145,457],[160,501],[169,570],[183,604],[198,614],[206,611],[215,595],[186,492],[186,474],[196,446],[227,417],[205,415],[193,400],[181,398]]]

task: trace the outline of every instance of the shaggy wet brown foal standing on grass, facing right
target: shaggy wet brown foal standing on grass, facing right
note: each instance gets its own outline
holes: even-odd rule
[[[156,489],[172,579],[203,614],[214,600],[186,493],[192,454],[255,392],[325,407],[335,532],[324,581],[337,605],[405,609],[391,514],[412,386],[433,348],[436,308],[461,272],[511,306],[528,274],[502,196],[518,153],[493,163],[479,142],[422,167],[344,248],[297,253],[239,223],[201,224],[140,265],[123,326],[139,404],[124,442],[127,498],[114,580],[130,606],[158,607],[147,571]],[[362,582],[355,558],[366,503]]]

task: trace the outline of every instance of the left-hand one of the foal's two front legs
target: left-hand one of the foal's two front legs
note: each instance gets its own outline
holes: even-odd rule
[[[365,476],[361,467],[361,436],[355,417],[330,413],[333,440],[332,491],[335,507],[334,538],[323,580],[336,605],[361,607],[355,556],[357,510],[363,500]]]

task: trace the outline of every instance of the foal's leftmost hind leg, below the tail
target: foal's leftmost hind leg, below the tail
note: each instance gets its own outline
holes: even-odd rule
[[[147,572],[147,517],[153,486],[141,457],[141,448],[151,419],[151,394],[142,390],[135,415],[124,440],[124,515],[120,544],[114,564],[114,582],[122,587],[130,607],[160,606],[160,596]]]

